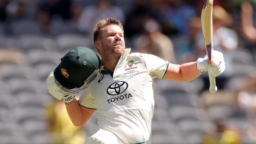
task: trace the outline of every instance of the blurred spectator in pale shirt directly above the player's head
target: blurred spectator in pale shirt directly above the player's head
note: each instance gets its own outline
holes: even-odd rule
[[[83,9],[77,23],[78,30],[92,35],[95,24],[108,17],[114,17],[124,22],[124,13],[120,7],[113,6],[111,0],[97,0],[96,5]]]

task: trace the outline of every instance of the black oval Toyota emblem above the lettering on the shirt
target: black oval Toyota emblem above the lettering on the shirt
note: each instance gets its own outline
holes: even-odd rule
[[[128,83],[126,83],[125,81],[117,81],[115,83],[112,83],[108,87],[107,93],[109,95],[114,96],[114,95],[123,93],[127,88],[128,88]]]

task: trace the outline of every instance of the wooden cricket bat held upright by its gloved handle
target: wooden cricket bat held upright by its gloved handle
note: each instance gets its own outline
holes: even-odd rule
[[[202,31],[204,34],[204,42],[206,47],[206,53],[208,55],[209,64],[211,65],[211,51],[213,50],[213,30],[212,30],[212,8],[213,8],[213,0],[205,0],[204,7],[201,13],[201,23],[202,23]],[[209,80],[210,80],[210,92],[216,93],[217,86],[215,82],[215,76],[208,72]]]

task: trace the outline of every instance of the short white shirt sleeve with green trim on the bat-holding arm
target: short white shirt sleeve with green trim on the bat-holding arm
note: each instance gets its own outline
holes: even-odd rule
[[[169,62],[151,54],[142,54],[149,74],[153,78],[163,78],[167,72]]]

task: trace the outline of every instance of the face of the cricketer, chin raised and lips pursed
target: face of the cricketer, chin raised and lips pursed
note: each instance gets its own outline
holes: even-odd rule
[[[124,33],[117,25],[106,26],[98,40],[100,55],[121,56],[125,50]]]

